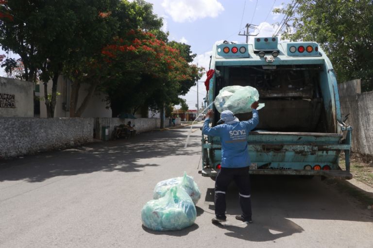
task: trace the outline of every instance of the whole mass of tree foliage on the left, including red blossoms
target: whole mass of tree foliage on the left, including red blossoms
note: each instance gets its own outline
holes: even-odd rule
[[[179,104],[202,68],[190,64],[189,45],[168,42],[162,25],[144,0],[0,0],[2,48],[19,54],[23,79],[53,81],[44,96],[49,116],[61,74],[73,81],[70,116],[83,113],[94,91],[108,93],[113,116]],[[82,83],[90,87],[79,107]]]

